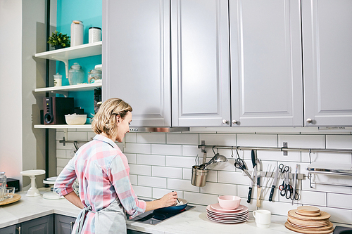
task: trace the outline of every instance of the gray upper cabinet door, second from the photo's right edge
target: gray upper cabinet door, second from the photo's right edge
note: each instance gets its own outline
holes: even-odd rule
[[[302,126],[301,5],[230,0],[232,126]]]

